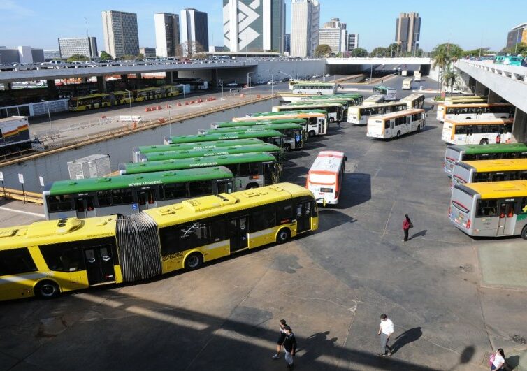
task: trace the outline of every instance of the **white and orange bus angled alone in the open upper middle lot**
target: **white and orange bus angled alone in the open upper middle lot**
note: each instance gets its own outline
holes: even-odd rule
[[[400,138],[412,131],[421,131],[425,125],[424,110],[404,110],[370,117],[366,136],[370,138]]]

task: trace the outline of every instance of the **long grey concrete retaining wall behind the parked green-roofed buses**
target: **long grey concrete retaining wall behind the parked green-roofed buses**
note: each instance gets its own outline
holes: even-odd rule
[[[22,189],[18,183],[18,174],[24,175],[24,189],[26,191],[41,192],[42,187],[38,182],[38,177],[42,176],[45,182],[55,180],[67,180],[67,162],[90,154],[109,154],[112,171],[117,170],[119,163],[131,162],[132,147],[138,145],[157,145],[163,143],[163,138],[168,135],[189,135],[196,134],[198,129],[207,129],[212,122],[231,121],[232,117],[243,117],[249,112],[262,112],[270,110],[271,106],[278,105],[278,99],[250,103],[239,108],[227,109],[222,112],[213,113],[205,117],[188,119],[185,122],[166,124],[145,131],[138,131],[128,135],[104,140],[99,143],[78,146],[74,150],[67,150],[48,154],[20,163],[3,166],[6,188]]]

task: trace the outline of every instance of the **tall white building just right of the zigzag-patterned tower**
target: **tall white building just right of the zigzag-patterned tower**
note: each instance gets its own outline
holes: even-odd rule
[[[292,0],[291,57],[312,57],[319,44],[320,3]]]

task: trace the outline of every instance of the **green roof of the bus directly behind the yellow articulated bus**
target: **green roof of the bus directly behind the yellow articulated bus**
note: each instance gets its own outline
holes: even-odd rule
[[[77,180],[59,180],[45,184],[46,194],[80,194],[82,192],[102,191],[144,187],[150,184],[192,182],[193,180],[223,179],[232,177],[231,170],[222,166],[215,168],[192,168],[178,171],[165,171],[141,175],[117,175],[115,177],[94,177]],[[49,193],[48,193],[49,192]]]

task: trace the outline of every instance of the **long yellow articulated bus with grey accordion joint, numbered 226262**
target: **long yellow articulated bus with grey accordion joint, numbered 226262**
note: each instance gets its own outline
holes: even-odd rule
[[[0,229],[0,300],[137,282],[319,226],[313,194],[279,183],[193,198],[127,217],[38,221]]]

